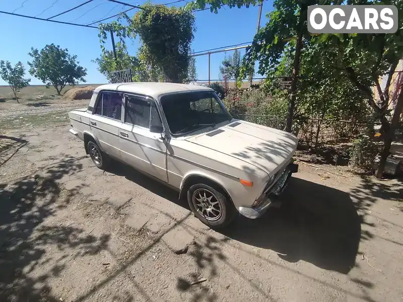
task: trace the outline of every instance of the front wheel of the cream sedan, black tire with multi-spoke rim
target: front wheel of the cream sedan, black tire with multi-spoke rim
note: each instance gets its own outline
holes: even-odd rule
[[[210,198],[211,196],[213,197]],[[195,201],[193,201],[193,198],[195,198]],[[199,199],[203,201],[199,201]],[[210,199],[210,205],[205,199]],[[216,200],[218,203],[216,201],[212,202],[212,200]],[[212,187],[207,184],[192,185],[187,191],[187,202],[194,215],[212,229],[225,228],[235,217],[234,205],[219,187]],[[203,204],[203,202],[206,203]],[[211,205],[212,203],[215,204]],[[220,212],[217,205],[220,206]]]

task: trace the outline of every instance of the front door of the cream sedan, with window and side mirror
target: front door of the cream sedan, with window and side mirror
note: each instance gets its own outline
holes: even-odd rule
[[[166,141],[161,138],[161,133],[150,131],[150,126],[162,126],[155,101],[125,94],[123,121],[119,129],[122,160],[167,182]]]

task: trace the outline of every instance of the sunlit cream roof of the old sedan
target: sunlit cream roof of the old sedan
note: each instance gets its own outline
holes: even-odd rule
[[[200,90],[213,91],[213,89],[211,88],[197,84],[176,84],[176,83],[162,83],[162,82],[106,84],[98,86],[95,89],[95,93],[98,93],[100,90],[116,90],[129,93],[132,92],[148,95],[155,99],[158,99],[161,95],[174,92],[188,92],[188,91],[200,91]]]

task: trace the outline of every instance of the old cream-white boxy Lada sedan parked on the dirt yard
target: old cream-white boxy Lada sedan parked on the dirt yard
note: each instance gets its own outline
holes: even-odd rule
[[[212,228],[260,216],[298,171],[294,135],[234,119],[203,86],[103,85],[69,117],[98,168],[112,158],[157,178]]]

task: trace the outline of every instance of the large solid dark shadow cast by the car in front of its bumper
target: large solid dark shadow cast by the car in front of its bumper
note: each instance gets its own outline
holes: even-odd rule
[[[289,262],[303,260],[347,274],[361,239],[361,218],[348,193],[291,178],[280,208],[257,219],[239,215],[223,234],[252,246],[271,249]]]

